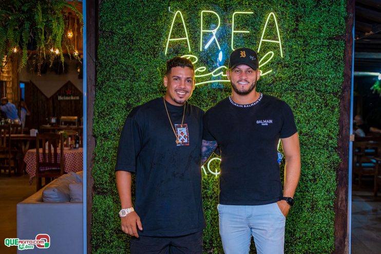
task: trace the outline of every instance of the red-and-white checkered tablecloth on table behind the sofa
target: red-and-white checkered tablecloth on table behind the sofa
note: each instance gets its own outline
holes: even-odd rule
[[[48,153],[46,153],[48,158]],[[58,154],[58,161],[61,159]],[[40,161],[42,161],[42,149],[40,149]],[[26,164],[26,171],[29,174],[29,183],[32,184],[33,178],[36,175],[36,149],[30,149],[27,151],[24,157]],[[43,170],[48,170],[45,168]],[[64,171],[65,172],[78,172],[83,170],[83,148],[69,149],[64,148]]]

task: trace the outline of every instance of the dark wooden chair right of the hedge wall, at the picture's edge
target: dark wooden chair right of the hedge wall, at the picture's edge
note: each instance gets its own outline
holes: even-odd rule
[[[356,141],[353,142],[353,174],[358,177],[358,185],[361,187],[363,176],[374,176],[375,157],[378,156],[379,142]],[[355,178],[353,177],[353,180]]]

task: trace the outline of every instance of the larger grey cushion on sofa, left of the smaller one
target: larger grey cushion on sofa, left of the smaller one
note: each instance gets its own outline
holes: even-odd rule
[[[61,175],[61,177],[44,189],[42,194],[43,201],[70,202],[69,184],[78,182],[78,176],[73,172]]]

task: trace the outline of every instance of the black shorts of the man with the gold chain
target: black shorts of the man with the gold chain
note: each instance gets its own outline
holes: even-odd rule
[[[131,254],[201,254],[202,231],[181,237],[131,237]]]

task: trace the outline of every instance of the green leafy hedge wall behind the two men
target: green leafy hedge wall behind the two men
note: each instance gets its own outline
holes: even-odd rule
[[[168,5],[170,10],[168,11]],[[231,53],[232,15],[237,15],[235,47],[258,49],[266,18],[277,18],[283,57],[279,45],[262,43],[259,57],[272,50],[273,59],[263,66],[271,73],[261,77],[257,90],[286,101],[294,111],[300,135],[302,170],[285,232],[286,253],[331,253],[334,249],[334,201],[339,100],[344,80],[344,33],[346,1],[125,1],[103,0],[100,4],[97,87],[93,135],[97,145],[92,169],[94,197],[91,246],[93,253],[129,253],[129,239],[120,230],[120,202],[115,183],[116,151],[124,120],[130,110],[165,93],[162,78],[165,61],[189,54],[185,41],[165,46],[174,12],[184,16],[190,54],[197,55],[196,68],[208,71],[227,66]],[[200,52],[200,14],[212,10],[221,17],[217,38],[223,53],[213,42]],[[177,17],[172,38],[183,37]],[[205,16],[204,29],[213,29],[217,17]],[[214,24],[214,25],[213,25]],[[274,19],[270,19],[265,38],[277,40]],[[211,37],[203,34],[203,45]],[[217,77],[213,78],[217,79]],[[200,77],[198,82],[211,80]],[[207,110],[230,94],[229,83],[197,86],[190,102]],[[283,162],[284,163],[284,162]],[[282,168],[283,168],[282,164]],[[218,163],[211,163],[211,171]],[[204,253],[223,253],[218,233],[218,177],[207,169],[203,173],[203,199],[207,219]],[[255,247],[252,245],[252,253]]]

